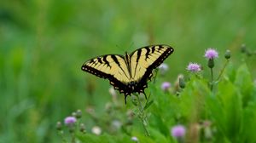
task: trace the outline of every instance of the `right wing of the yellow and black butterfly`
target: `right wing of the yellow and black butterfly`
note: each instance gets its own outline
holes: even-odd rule
[[[130,54],[131,77],[137,82],[137,92],[143,93],[147,81],[152,77],[152,71],[160,66],[174,49],[168,45],[152,45],[137,49]]]

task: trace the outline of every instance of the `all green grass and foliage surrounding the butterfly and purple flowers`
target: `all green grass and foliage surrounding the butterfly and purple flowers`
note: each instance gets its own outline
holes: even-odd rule
[[[0,142],[60,142],[55,123],[77,109],[88,132],[78,135],[84,141],[131,142],[135,135],[141,142],[172,142],[173,125],[183,123],[190,129],[207,119],[213,142],[255,142],[255,54],[240,52],[242,43],[255,51],[254,5],[253,0],[1,1]],[[175,52],[166,60],[169,72],[147,89],[154,100],[145,111],[152,136],[144,136],[137,117],[126,131],[109,129],[113,119],[128,122],[126,112],[137,106],[129,97],[125,106],[122,94],[113,105],[108,81],[82,72],[80,66],[100,54],[124,54],[156,43],[170,44]],[[224,65],[224,51],[232,54],[213,93],[203,58],[209,47],[220,54],[214,77]],[[163,93],[161,82],[174,85],[181,73],[189,77],[185,68],[190,61],[204,67],[202,78],[187,80],[178,97]],[[111,116],[106,104],[113,107]],[[97,120],[86,112],[89,107]],[[102,136],[90,134],[95,125],[103,129]]]

